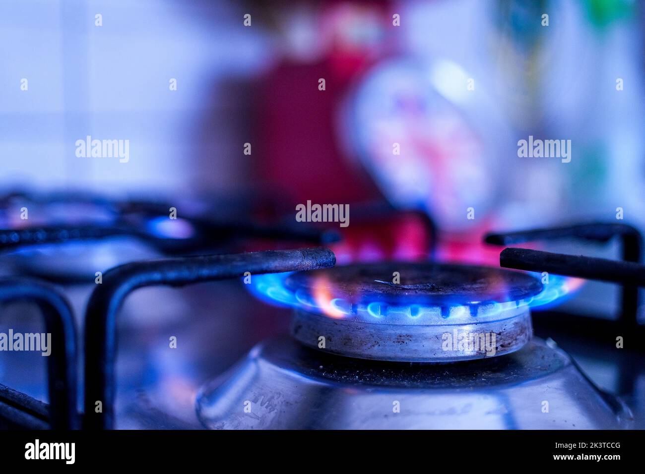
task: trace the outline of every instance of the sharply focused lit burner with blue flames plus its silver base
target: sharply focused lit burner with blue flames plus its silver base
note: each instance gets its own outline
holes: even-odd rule
[[[531,339],[530,308],[561,299],[568,279],[387,262],[255,275],[252,288],[293,308],[293,337],[258,344],[203,386],[207,428],[630,426],[553,341]]]

